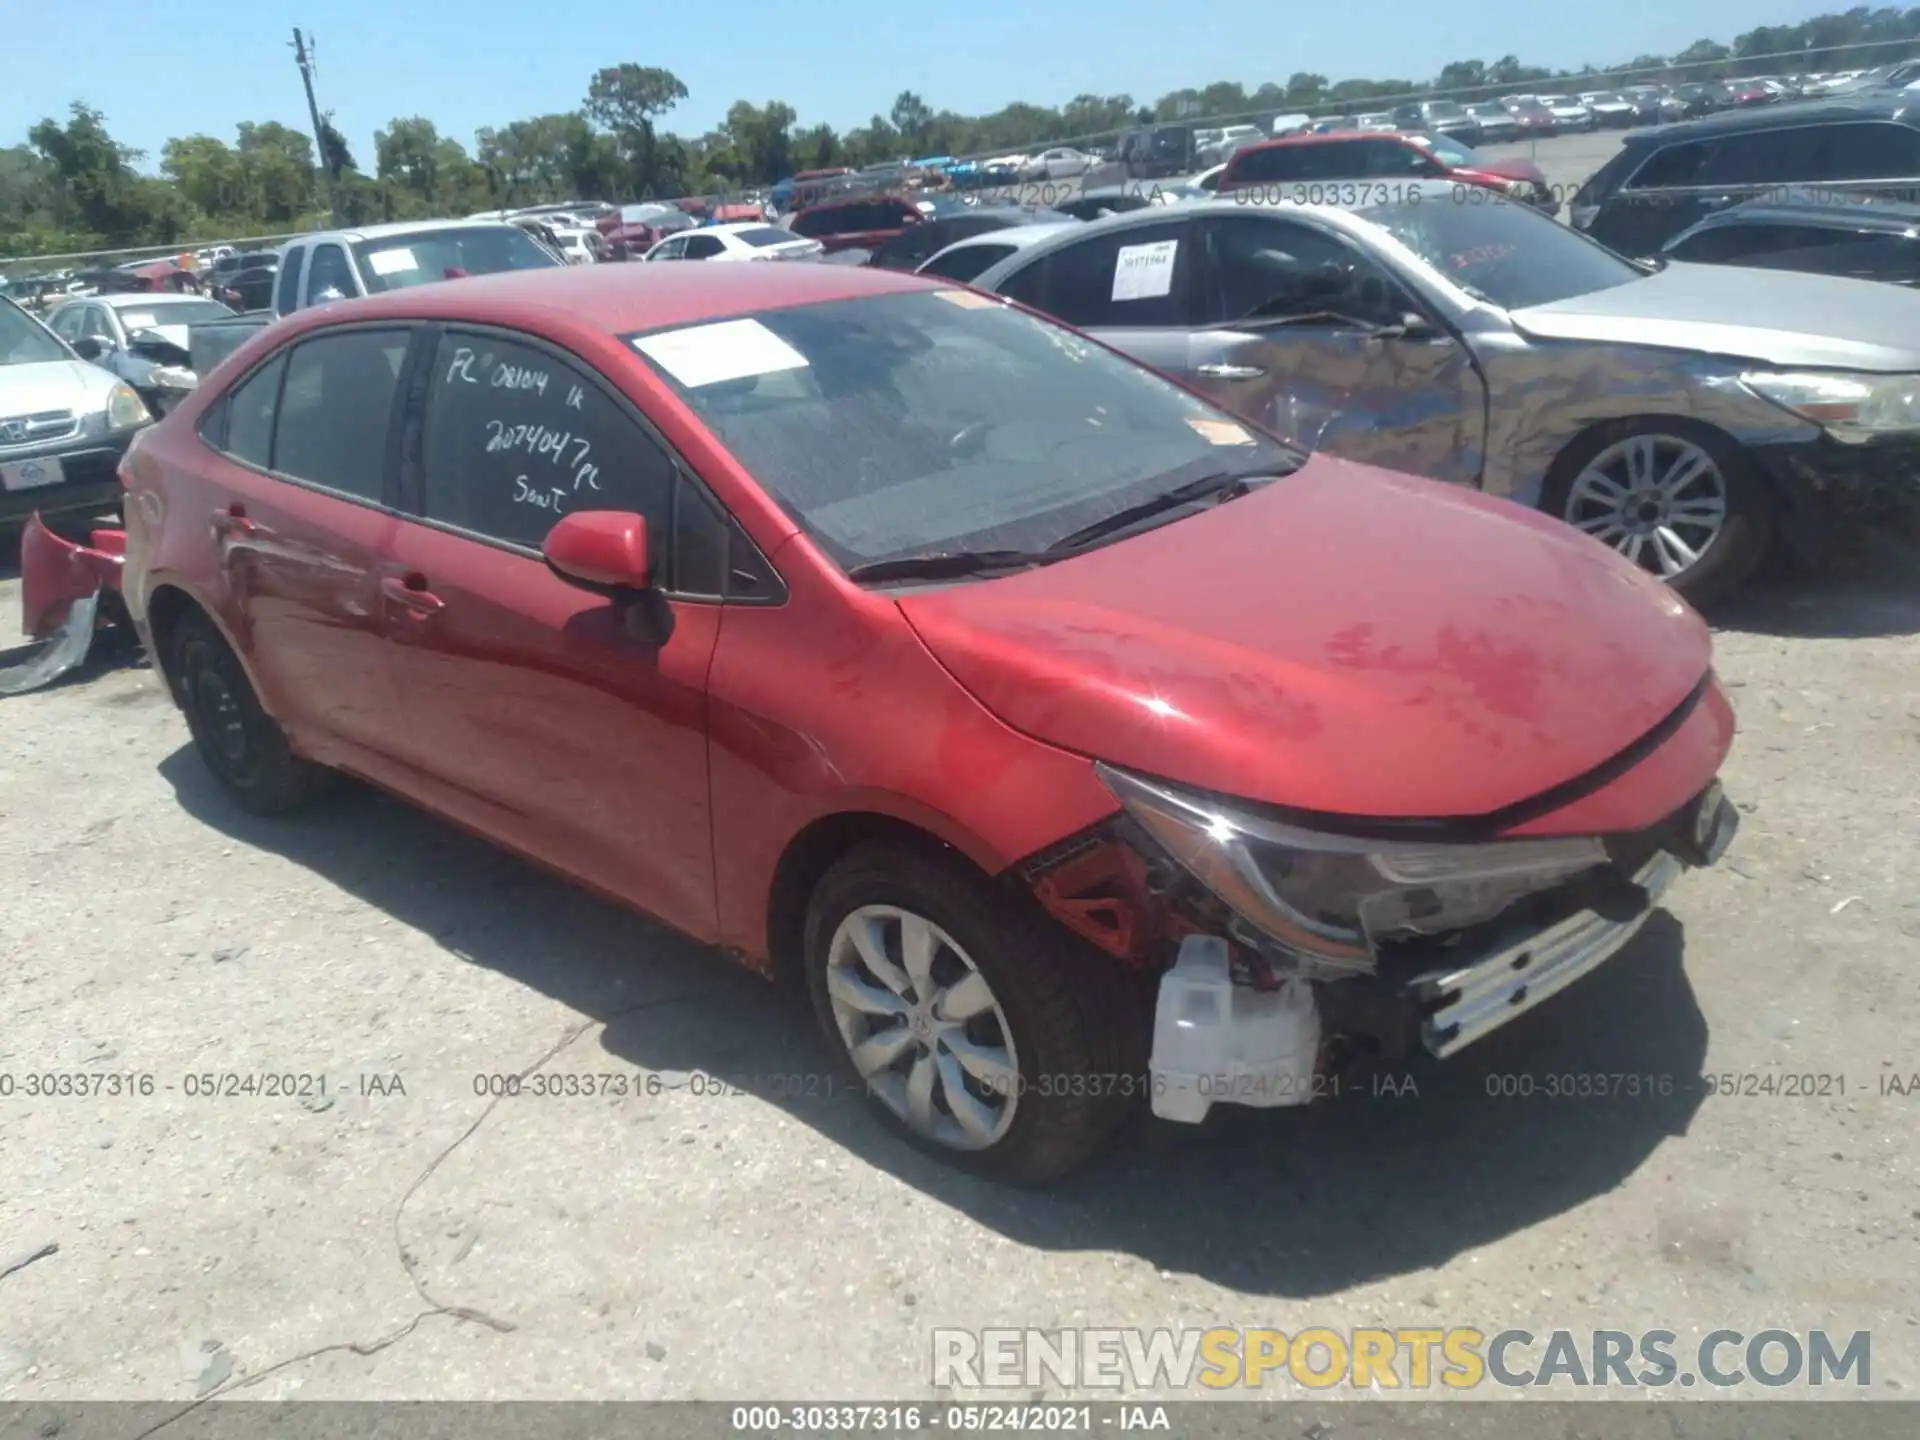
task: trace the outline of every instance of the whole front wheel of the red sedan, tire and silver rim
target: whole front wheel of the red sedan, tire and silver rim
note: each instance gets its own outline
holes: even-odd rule
[[[1131,972],[931,851],[866,845],[828,872],[806,981],[879,1117],[993,1179],[1077,1169],[1146,1089]]]

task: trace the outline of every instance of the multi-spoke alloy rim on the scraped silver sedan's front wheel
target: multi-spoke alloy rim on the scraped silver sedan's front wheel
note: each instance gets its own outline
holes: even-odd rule
[[[1565,520],[1663,580],[1692,570],[1726,528],[1726,476],[1692,440],[1638,434],[1590,459]]]

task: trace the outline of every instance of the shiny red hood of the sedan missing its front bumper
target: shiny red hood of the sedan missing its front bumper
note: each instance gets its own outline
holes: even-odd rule
[[[1532,799],[1653,730],[1711,660],[1699,616],[1597,541],[1331,457],[1104,549],[899,605],[1014,730],[1346,816]]]

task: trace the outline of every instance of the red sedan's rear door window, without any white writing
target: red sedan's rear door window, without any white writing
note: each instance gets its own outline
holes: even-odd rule
[[[273,428],[273,470],[355,499],[384,499],[394,397],[411,340],[407,328],[342,330],[294,346]]]

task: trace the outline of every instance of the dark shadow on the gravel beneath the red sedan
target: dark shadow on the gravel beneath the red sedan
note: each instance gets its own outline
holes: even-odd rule
[[[1308,1110],[1217,1110],[1202,1127],[1142,1116],[1085,1175],[1012,1190],[893,1139],[831,1077],[804,1004],[716,950],[361,785],[257,820],[190,747],[159,768],[209,828],[603,1021],[578,1044],[666,1073],[678,1104],[755,1094],[854,1164],[1041,1250],[1117,1250],[1254,1294],[1329,1294],[1430,1269],[1605,1194],[1684,1133],[1703,1098],[1707,1023],[1680,925],[1659,914],[1611,964],[1446,1064],[1377,1068]],[[516,1069],[538,1050],[530,1041],[490,1068]],[[607,1068],[591,1054],[568,1064]]]

